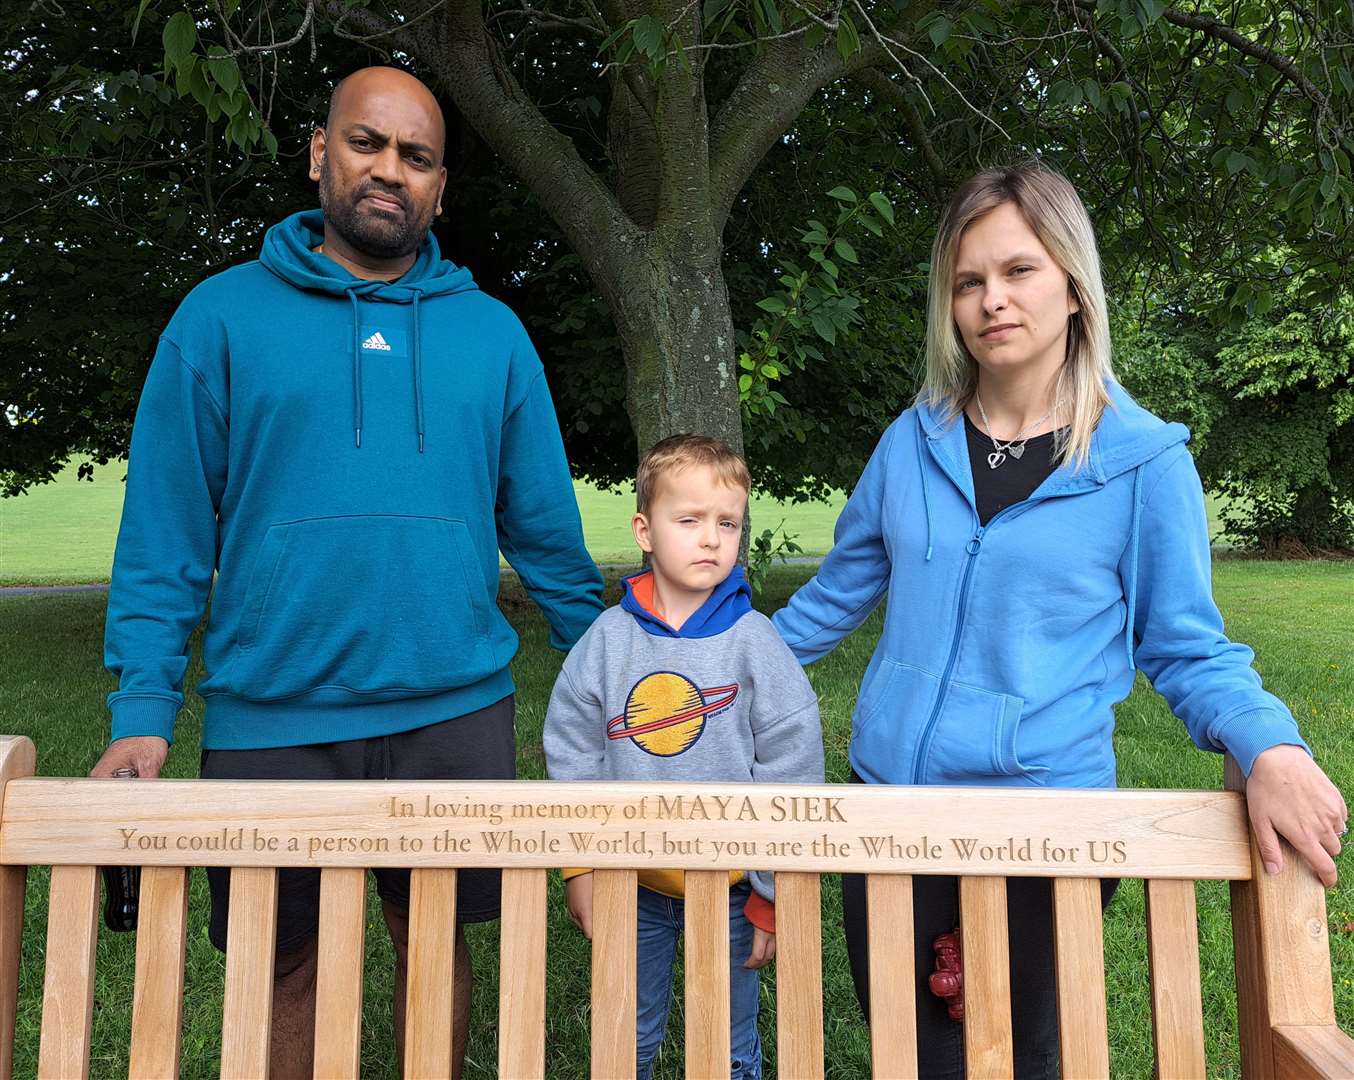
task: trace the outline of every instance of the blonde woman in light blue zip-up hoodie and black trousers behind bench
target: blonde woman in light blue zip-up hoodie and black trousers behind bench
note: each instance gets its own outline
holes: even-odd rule
[[[1247,773],[1269,869],[1282,835],[1335,882],[1345,801],[1223,632],[1187,438],[1114,380],[1072,187],[1039,166],[968,180],[932,252],[925,386],[774,618],[810,663],[890,597],[852,719],[853,780],[1112,788],[1113,708],[1141,670],[1197,746]],[[913,885],[919,1075],[963,1076],[963,1029],[923,981],[933,938],[957,923],[956,882]],[[1020,1076],[1057,1073],[1049,892],[1007,881]],[[862,878],[844,878],[842,901],[868,1018]]]

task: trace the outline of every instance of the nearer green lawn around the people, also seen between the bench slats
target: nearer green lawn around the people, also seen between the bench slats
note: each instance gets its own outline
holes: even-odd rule
[[[808,575],[806,567],[773,571],[761,606],[773,610]],[[1354,633],[1349,601],[1354,567],[1339,563],[1221,562],[1216,594],[1231,633],[1255,647],[1267,685],[1293,708],[1304,732],[1332,780],[1354,790]],[[612,598],[615,582],[612,582]],[[559,669],[559,655],[546,646],[544,623],[521,591],[508,585],[504,610],[523,635],[513,665],[519,686],[519,773],[540,778],[540,744],[546,698]],[[31,736],[38,744],[39,771],[47,775],[84,773],[107,739],[103,697],[111,689],[102,670],[104,598],[47,595],[0,598],[0,729]],[[880,628],[876,614],[841,648],[810,669],[822,701],[827,774],[848,775],[846,742],[850,709]],[[190,682],[200,662],[190,670]],[[196,770],[200,701],[190,696],[168,774]],[[1116,736],[1120,782],[1147,788],[1217,788],[1221,761],[1193,748],[1183,728],[1145,685],[1120,708]],[[1349,870],[1347,859],[1340,859]],[[37,1065],[41,1025],[42,949],[46,926],[47,872],[30,873],[23,973],[19,1000],[16,1076],[31,1076]],[[1354,880],[1346,873],[1327,899],[1340,1023],[1354,1027],[1354,935],[1340,930],[1354,919]],[[206,880],[192,881],[183,1076],[214,1076],[219,1062],[223,962],[206,939]],[[1227,889],[1216,882],[1198,886],[1204,1019],[1209,1076],[1239,1076],[1235,988]],[[363,1043],[364,1076],[393,1077],[390,1038],[390,946],[375,904],[370,907],[367,1012]],[[1147,1077],[1151,1066],[1151,1004],[1144,946],[1143,891],[1125,882],[1106,915],[1106,969],[1112,1066],[1114,1076]],[[477,1007],[466,1076],[496,1072],[497,926],[471,927],[470,945],[478,973]],[[551,884],[550,970],[547,977],[547,1061],[550,1075],[571,1080],[588,1072],[589,950],[563,915],[559,885]],[[133,939],[103,934],[99,941],[99,983],[95,1010],[92,1075],[126,1075],[133,980]],[[869,1043],[860,1019],[841,934],[839,889],[823,888],[823,1012],[829,1076],[854,1080],[869,1075]],[[764,980],[762,1038],[768,1076],[774,1076],[774,989]],[[670,1031],[681,1031],[681,993],[674,997]],[[682,1075],[681,1048],[669,1039],[655,1076]]]

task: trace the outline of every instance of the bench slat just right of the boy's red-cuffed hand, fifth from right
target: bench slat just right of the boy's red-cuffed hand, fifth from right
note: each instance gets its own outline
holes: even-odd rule
[[[823,1075],[823,926],[818,874],[776,874],[776,1057],[781,1076]]]

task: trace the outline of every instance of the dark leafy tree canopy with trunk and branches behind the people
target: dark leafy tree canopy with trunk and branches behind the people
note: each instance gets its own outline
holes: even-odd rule
[[[701,429],[776,494],[849,485],[915,388],[936,217],[979,166],[1066,172],[1140,323],[1169,329],[1190,286],[1194,325],[1233,329],[1346,292],[1345,3],[45,0],[0,20],[9,491],[125,451],[158,328],[314,203],[305,142],[367,62],[441,97],[437,234],[527,321],[603,482]]]

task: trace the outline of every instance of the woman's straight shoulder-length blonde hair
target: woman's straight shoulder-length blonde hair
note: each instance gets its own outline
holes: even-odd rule
[[[1109,311],[1101,283],[1099,252],[1090,215],[1076,189],[1043,165],[987,169],[955,192],[932,246],[926,311],[926,382],[918,401],[956,418],[978,388],[978,364],[955,325],[955,264],[959,242],[979,218],[1011,203],[1068,276],[1079,311],[1067,321],[1067,359],[1057,372],[1055,399],[1070,420],[1057,448],[1060,460],[1078,468],[1090,457],[1091,433],[1109,405],[1105,383],[1110,365]]]

